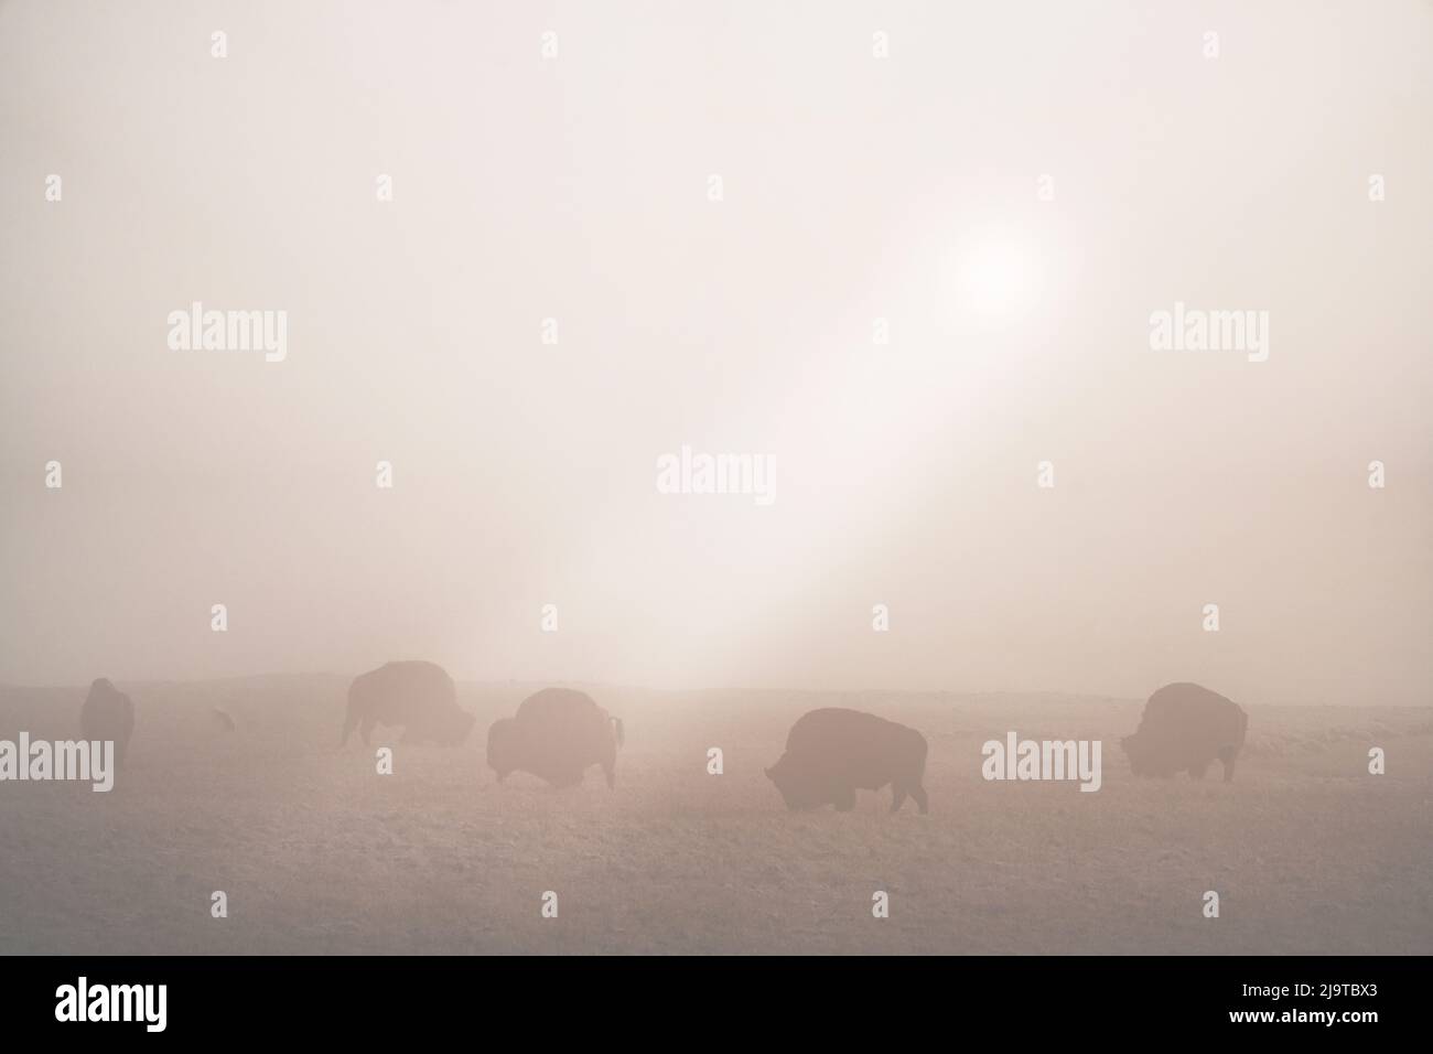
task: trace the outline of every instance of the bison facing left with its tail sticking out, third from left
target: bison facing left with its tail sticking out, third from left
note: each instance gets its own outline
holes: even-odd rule
[[[582,773],[600,764],[608,787],[616,786],[622,718],[612,717],[590,695],[572,688],[543,688],[524,698],[514,717],[487,730],[487,764],[497,782],[527,771],[555,787],[582,783]]]

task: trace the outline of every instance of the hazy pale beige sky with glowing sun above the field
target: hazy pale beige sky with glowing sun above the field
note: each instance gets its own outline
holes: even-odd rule
[[[1433,7],[1174,7],[0,3],[0,680],[1427,703]]]

